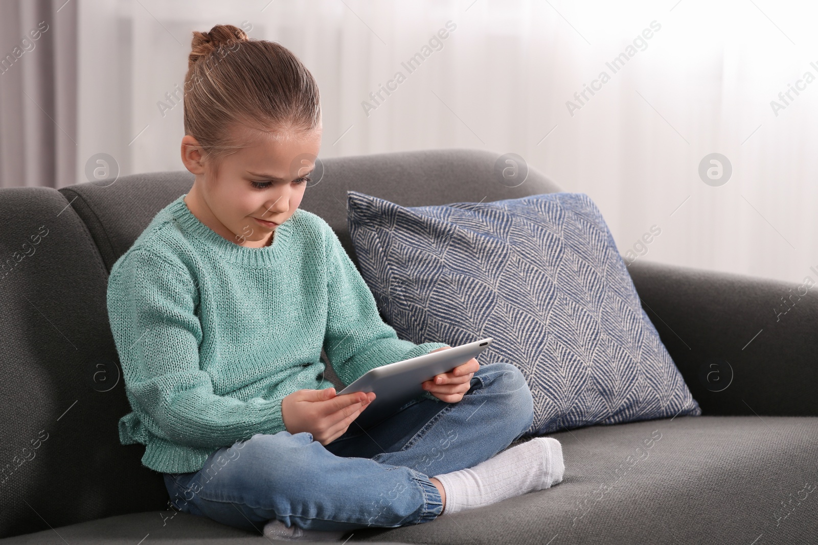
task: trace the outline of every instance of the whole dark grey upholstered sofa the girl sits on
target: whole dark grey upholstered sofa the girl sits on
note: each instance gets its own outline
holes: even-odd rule
[[[356,261],[347,190],[407,206],[559,190],[533,169],[506,187],[493,173],[498,156],[326,159],[302,208],[325,218]],[[267,543],[171,511],[160,474],[142,467],[144,447],[117,435],[129,407],[106,313],[108,271],[191,183],[187,171],[153,172],[0,190],[0,542]],[[777,315],[792,285],[642,258],[629,270],[702,416],[555,432],[560,485],[450,520],[360,529],[349,541],[818,543],[814,293]],[[331,369],[326,376],[338,385]]]

